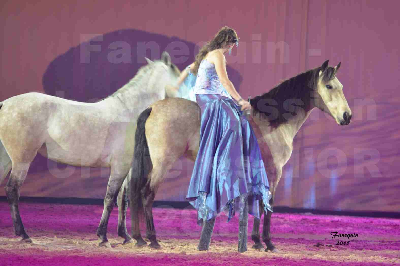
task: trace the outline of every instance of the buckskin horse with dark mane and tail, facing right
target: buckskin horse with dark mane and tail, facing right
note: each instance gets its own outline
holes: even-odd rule
[[[318,108],[332,116],[337,124],[350,123],[352,111],[336,77],[340,63],[328,67],[328,60],[317,67],[283,81],[272,90],[250,99],[252,112],[248,122],[254,129],[267,171],[271,205],[282,168],[292,154],[293,138],[312,110]],[[130,195],[132,237],[138,246],[147,245],[140,234],[139,212],[144,209],[146,237],[150,246],[159,248],[152,217],[152,203],[166,173],[180,156],[196,160],[200,140],[200,108],[196,102],[170,98],[159,100],[144,110],[137,121],[134,160],[124,191]],[[260,203],[261,204],[261,203]],[[262,210],[262,208],[260,208]],[[270,236],[271,212],[264,215],[262,240],[266,250],[277,252]],[[240,221],[247,227],[247,212]],[[215,219],[203,223],[199,249],[210,243]],[[260,220],[254,219],[253,248],[263,248],[259,233]],[[126,229],[125,229],[126,230]],[[247,230],[240,235],[240,252],[247,250]]]

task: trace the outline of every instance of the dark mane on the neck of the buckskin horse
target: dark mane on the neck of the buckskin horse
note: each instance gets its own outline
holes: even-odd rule
[[[268,93],[256,96],[250,100],[253,115],[266,114],[266,120],[274,127],[286,123],[285,118],[290,114],[296,114],[294,108],[308,110],[312,91],[316,88],[321,67],[300,73],[286,81],[282,81]],[[322,77],[323,82],[327,82],[335,77],[335,69],[328,67]],[[293,100],[292,100],[293,99]],[[287,102],[285,102],[288,100]],[[294,104],[294,105],[290,105]]]

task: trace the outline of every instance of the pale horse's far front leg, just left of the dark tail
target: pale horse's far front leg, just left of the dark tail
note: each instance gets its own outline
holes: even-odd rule
[[[123,244],[132,243],[133,239],[129,236],[128,230],[126,229],[126,210],[128,209],[128,191],[127,191],[127,179],[125,178],[124,183],[117,197],[118,204],[118,236],[124,238]]]

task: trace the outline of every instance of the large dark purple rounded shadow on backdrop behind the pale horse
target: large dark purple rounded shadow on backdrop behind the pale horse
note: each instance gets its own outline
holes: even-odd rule
[[[190,41],[134,29],[81,36],[88,41],[70,48],[48,65],[42,78],[46,94],[80,102],[96,102],[128,83],[146,64],[144,57],[160,59],[162,51],[167,51],[172,63],[182,71],[194,61],[199,51],[199,47]],[[226,71],[240,91],[242,76],[229,66]],[[60,163],[57,166],[59,169],[66,167]],[[46,170],[48,159],[36,156],[30,172]]]

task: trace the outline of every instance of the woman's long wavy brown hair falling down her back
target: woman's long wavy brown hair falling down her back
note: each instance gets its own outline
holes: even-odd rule
[[[194,68],[190,69],[194,75],[197,75],[197,71],[200,66],[200,62],[203,58],[208,54],[208,52],[213,51],[215,49],[220,49],[226,47],[226,45],[230,45],[231,43],[236,42],[238,39],[238,35],[235,30],[224,26],[219,30],[219,32],[215,35],[213,39],[208,41],[198,52],[196,55],[196,61],[194,63]]]

